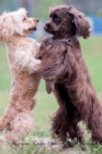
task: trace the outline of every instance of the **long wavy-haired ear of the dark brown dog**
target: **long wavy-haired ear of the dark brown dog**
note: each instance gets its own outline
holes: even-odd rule
[[[90,33],[91,33],[91,31],[90,31],[91,26],[90,26],[88,19],[86,18],[86,15],[83,13],[79,12],[72,6],[70,6],[68,8],[68,13],[73,15],[72,22],[76,25],[77,35],[82,36],[83,38],[89,37]]]

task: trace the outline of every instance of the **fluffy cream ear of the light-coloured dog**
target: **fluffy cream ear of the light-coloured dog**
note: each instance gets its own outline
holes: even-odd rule
[[[0,16],[0,35],[3,38],[11,36],[14,32],[12,16],[7,15],[5,13]]]

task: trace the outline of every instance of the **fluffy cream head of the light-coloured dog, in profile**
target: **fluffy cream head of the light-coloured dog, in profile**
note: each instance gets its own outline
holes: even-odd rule
[[[26,10],[20,9],[15,12],[4,12],[0,16],[0,35],[3,38],[14,34],[27,35],[36,30],[38,20],[26,16]]]

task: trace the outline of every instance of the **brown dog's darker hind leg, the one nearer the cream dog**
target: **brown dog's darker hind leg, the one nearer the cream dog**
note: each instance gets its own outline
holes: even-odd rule
[[[59,103],[59,109],[52,118],[52,135],[57,138],[63,143],[66,143],[68,139],[77,140],[80,143],[84,143],[84,135],[78,122],[80,121],[80,113],[71,103],[71,100],[61,85],[55,85],[55,96]]]

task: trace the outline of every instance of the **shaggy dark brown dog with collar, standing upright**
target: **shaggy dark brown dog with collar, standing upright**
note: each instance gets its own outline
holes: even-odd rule
[[[97,97],[90,74],[81,54],[79,36],[91,34],[86,15],[75,7],[50,9],[50,20],[44,29],[53,36],[43,40],[36,58],[48,94],[54,92],[59,108],[52,118],[52,136],[67,144],[77,139],[84,144],[83,121],[93,143],[102,143],[102,105]],[[70,144],[68,142],[68,144]]]

